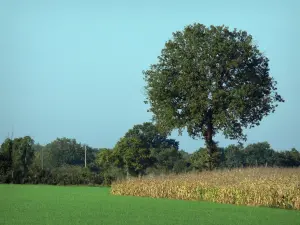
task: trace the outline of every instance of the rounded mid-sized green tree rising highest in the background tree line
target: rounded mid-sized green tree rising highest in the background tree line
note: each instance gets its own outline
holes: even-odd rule
[[[111,159],[115,166],[137,176],[145,175],[150,167],[172,171],[180,157],[178,142],[168,139],[154,124],[147,122],[135,125],[119,140]]]

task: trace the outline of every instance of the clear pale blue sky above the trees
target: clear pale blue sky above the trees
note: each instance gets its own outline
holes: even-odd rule
[[[300,149],[298,0],[0,0],[0,142],[13,129],[15,137],[41,144],[70,137],[113,147],[151,118],[142,70],[172,32],[194,22],[253,35],[286,102],[246,132],[248,143]],[[172,137],[188,152],[203,146],[187,135]]]

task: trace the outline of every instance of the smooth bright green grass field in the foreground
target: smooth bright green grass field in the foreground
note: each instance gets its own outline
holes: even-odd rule
[[[109,188],[0,185],[1,225],[300,224],[300,211],[112,196]]]

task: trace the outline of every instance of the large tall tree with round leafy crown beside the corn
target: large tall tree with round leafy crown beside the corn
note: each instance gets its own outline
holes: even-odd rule
[[[149,111],[161,130],[187,129],[205,139],[246,140],[244,128],[259,125],[283,102],[269,74],[269,60],[246,31],[225,26],[186,26],[173,33],[158,62],[143,71]]]

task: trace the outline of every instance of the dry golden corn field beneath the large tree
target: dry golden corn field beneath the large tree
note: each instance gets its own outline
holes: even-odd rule
[[[113,183],[111,193],[300,210],[300,168],[248,168],[128,179]]]

